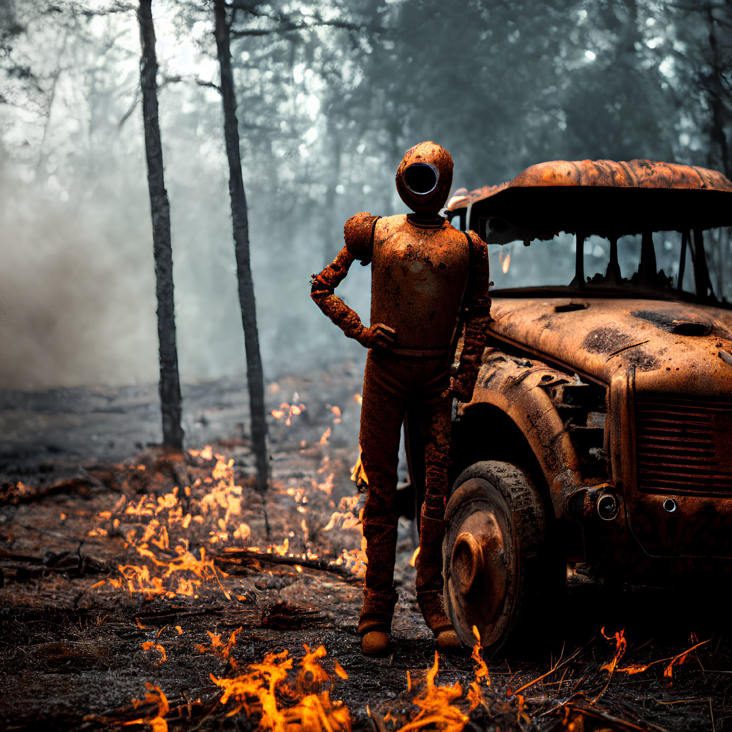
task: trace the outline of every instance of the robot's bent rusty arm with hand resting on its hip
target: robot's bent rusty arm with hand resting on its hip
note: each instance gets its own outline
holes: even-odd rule
[[[369,264],[373,252],[373,230],[378,216],[362,213],[352,216],[346,222],[343,233],[346,246],[338,253],[331,264],[310,280],[313,285],[310,296],[315,305],[323,311],[349,338],[354,338],[362,346],[371,348],[382,345],[383,334],[376,328],[367,328],[361,322],[358,313],[351,310],[340,297],[334,294],[335,288],[348,275],[348,269],[354,260],[361,264]],[[380,326],[384,328],[385,326]]]

